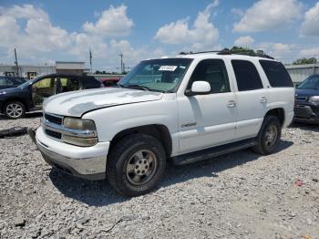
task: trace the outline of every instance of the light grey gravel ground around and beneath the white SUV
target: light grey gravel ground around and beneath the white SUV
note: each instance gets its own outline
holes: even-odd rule
[[[283,130],[270,156],[170,166],[157,191],[132,199],[52,170],[26,135],[0,147],[0,238],[319,238],[319,126]]]

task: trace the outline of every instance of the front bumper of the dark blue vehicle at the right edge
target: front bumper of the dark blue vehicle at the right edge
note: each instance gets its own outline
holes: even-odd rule
[[[319,122],[319,107],[310,104],[296,104],[294,106],[294,121]]]

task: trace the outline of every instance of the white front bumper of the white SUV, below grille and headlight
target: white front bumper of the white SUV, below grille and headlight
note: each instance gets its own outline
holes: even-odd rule
[[[109,142],[98,142],[92,147],[78,147],[47,137],[42,127],[36,130],[35,140],[48,164],[79,178],[105,179]]]

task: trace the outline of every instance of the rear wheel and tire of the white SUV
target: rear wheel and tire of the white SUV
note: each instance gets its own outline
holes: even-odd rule
[[[252,151],[268,155],[276,151],[282,137],[282,124],[275,116],[266,116],[262,123],[262,129],[257,136],[257,145]]]

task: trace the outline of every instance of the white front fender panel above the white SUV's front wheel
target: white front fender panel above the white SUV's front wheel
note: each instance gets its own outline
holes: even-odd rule
[[[176,100],[157,100],[98,109],[87,112],[82,118],[95,121],[99,141],[110,141],[122,130],[152,124],[166,126],[172,138],[178,134]]]

